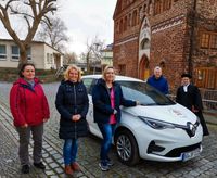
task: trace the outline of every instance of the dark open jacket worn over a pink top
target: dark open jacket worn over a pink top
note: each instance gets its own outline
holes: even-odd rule
[[[136,101],[126,100],[123,97],[123,91],[117,82],[113,82],[114,94],[115,94],[115,115],[117,123],[120,120],[120,105],[135,106]],[[104,79],[99,79],[92,90],[92,102],[93,102],[93,115],[95,123],[108,124],[110,117],[114,113],[114,109],[111,105],[110,92],[106,88]]]

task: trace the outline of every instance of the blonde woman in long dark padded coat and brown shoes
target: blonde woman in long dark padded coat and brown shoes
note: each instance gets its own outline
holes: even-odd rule
[[[74,170],[80,170],[76,163],[77,139],[88,132],[86,115],[89,102],[86,87],[81,81],[81,71],[77,66],[68,66],[64,78],[56,93],[55,106],[61,114],[59,136],[65,140],[65,173],[73,175]]]

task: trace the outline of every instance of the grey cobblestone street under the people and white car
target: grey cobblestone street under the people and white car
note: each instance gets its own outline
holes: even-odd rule
[[[17,156],[17,134],[13,127],[13,120],[9,109],[9,92],[12,84],[0,82],[0,178],[8,177],[65,177],[63,173],[62,140],[59,139],[59,117],[54,107],[54,97],[59,82],[43,85],[49,100],[51,118],[46,124],[43,141],[43,162],[46,171],[30,168],[27,176],[21,175]],[[126,178],[155,178],[155,177],[183,177],[207,178],[217,177],[217,126],[208,125],[210,136],[203,141],[201,156],[189,162],[158,163],[141,161],[140,164],[128,167],[117,161],[114,150],[111,158],[115,165],[107,173],[102,173],[98,166],[100,140],[93,136],[79,139],[78,163],[81,171],[74,177],[126,177]],[[33,151],[33,148],[30,148]]]

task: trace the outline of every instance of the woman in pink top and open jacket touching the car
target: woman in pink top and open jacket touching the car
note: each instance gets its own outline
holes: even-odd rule
[[[99,164],[101,170],[106,171],[113,165],[108,158],[112,137],[116,125],[120,120],[120,105],[135,106],[136,101],[123,97],[120,86],[114,81],[115,73],[112,66],[105,67],[103,78],[99,79],[92,90],[94,122],[103,136]]]

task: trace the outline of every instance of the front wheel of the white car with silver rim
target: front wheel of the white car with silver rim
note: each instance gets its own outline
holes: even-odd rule
[[[140,160],[139,149],[133,135],[129,130],[118,130],[115,136],[115,149],[118,160],[128,166]]]

